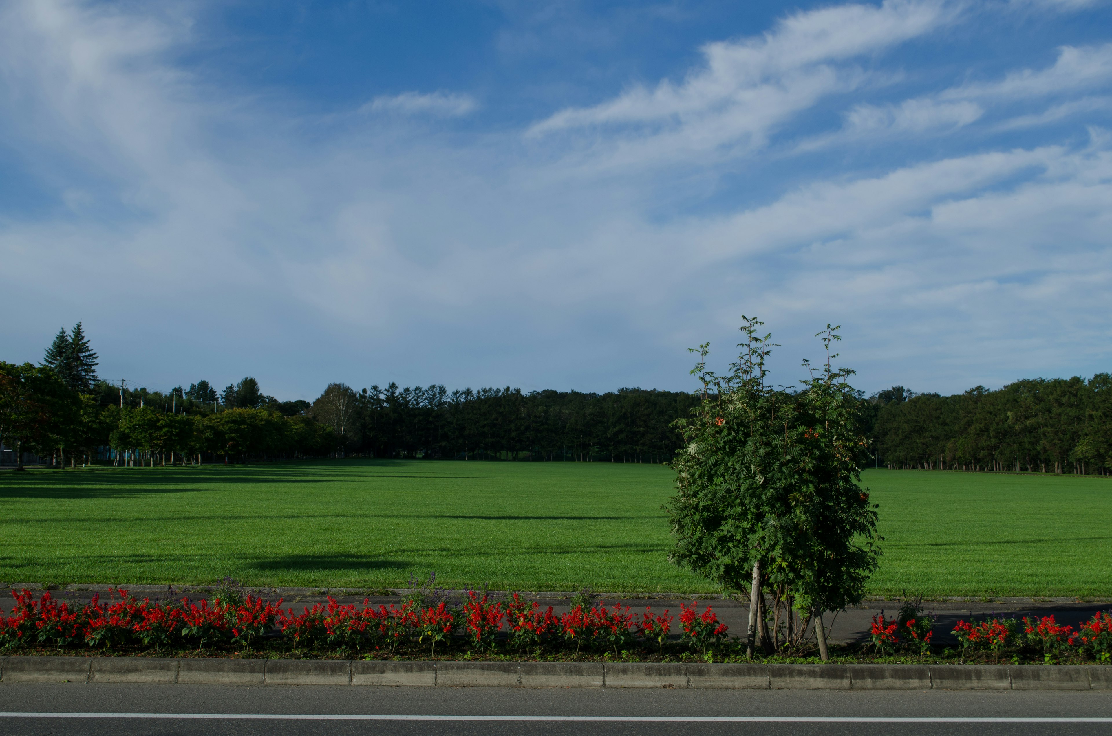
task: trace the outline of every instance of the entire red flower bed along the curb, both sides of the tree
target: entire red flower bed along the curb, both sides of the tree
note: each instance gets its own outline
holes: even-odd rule
[[[681,605],[678,616],[634,613],[628,606],[576,603],[552,606],[470,593],[446,600],[398,604],[326,603],[298,613],[282,601],[218,593],[209,599],[138,599],[127,590],[108,600],[71,606],[46,591],[12,591],[16,606],[0,615],[0,649],[22,654],[147,654],[175,656],[360,657],[367,659],[620,659],[631,662],[744,660],[745,641],[728,636],[709,607]],[[678,635],[672,624],[678,619]],[[960,620],[957,648],[941,647],[935,621],[905,607],[896,618],[873,617],[865,645],[833,648],[833,662],[1041,662],[1112,664],[1112,615],[1096,613],[1076,630],[1053,616]],[[811,650],[758,653],[765,662],[816,660]]]

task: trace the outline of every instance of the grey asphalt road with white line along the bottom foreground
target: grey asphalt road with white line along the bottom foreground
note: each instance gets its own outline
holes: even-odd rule
[[[12,717],[0,734],[1112,734],[1112,692],[822,692],[565,688],[0,685],[0,712],[205,714],[216,717]],[[247,714],[236,718],[230,714]],[[336,718],[250,716],[331,715]],[[344,719],[339,716],[426,716]],[[460,718],[463,716],[464,718]],[[467,719],[479,716],[489,719]],[[548,717],[546,720],[497,717]],[[439,717],[439,718],[437,718]],[[495,718],[490,718],[495,717]],[[575,718],[598,719],[575,719]],[[618,719],[602,719],[602,718]],[[788,720],[707,722],[707,717]],[[626,718],[639,718],[638,720]],[[678,718],[678,720],[664,720]],[[810,718],[810,720],[804,720]],[[846,720],[836,720],[843,718]],[[921,720],[868,720],[917,718]],[[940,720],[979,718],[977,722]],[[1103,718],[1103,722],[1015,720]]]

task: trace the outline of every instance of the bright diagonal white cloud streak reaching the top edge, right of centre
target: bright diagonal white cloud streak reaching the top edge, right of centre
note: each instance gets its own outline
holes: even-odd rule
[[[757,38],[703,47],[705,67],[682,82],[634,87],[589,108],[534,125],[536,138],[588,127],[615,129],[622,161],[667,159],[724,146],[761,146],[771,130],[821,98],[856,87],[861,72],[837,67],[926,33],[954,17],[940,2],[886,0],[797,12]]]

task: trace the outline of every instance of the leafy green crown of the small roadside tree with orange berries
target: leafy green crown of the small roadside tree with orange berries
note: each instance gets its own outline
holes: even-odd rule
[[[833,369],[833,329],[821,334],[827,360],[798,390],[767,385],[771,336],[745,319],[743,351],[726,376],[706,369],[707,346],[692,372],[703,381],[686,441],[673,461],[677,494],[667,511],[673,559],[724,589],[747,588],[754,565],[800,610],[856,603],[876,568],[876,511],[857,484],[867,458],[860,400]]]

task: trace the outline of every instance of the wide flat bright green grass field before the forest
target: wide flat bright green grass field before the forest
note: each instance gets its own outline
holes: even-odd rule
[[[870,470],[873,595],[1112,595],[1112,481]],[[332,461],[0,474],[0,580],[712,591],[661,466]]]

